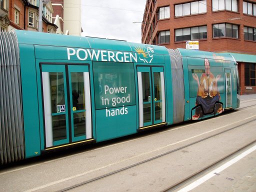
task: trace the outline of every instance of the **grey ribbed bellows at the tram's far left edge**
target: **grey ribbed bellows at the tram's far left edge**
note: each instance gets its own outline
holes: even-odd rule
[[[19,50],[14,32],[0,32],[0,164],[24,158]]]

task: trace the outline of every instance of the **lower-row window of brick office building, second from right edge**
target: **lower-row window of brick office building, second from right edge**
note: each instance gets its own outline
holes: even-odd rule
[[[238,25],[220,23],[212,25],[213,38],[215,37],[232,37],[238,38]]]

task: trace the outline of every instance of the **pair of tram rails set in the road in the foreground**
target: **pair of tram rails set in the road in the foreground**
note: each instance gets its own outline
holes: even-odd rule
[[[75,185],[72,185],[72,186],[69,186],[69,187],[66,187],[66,188],[57,190],[57,192],[70,191],[70,190],[72,190],[72,189],[75,189],[75,188],[78,188],[78,187],[80,187],[80,186],[86,185],[86,184],[88,184],[88,183],[90,183],[90,182],[98,181],[98,180],[100,180],[100,179],[103,179],[103,178],[105,178],[105,177],[111,176],[111,175],[113,175],[113,174],[117,174],[117,173],[120,173],[120,172],[122,172],[122,171],[125,171],[125,170],[127,170],[127,169],[129,169],[129,168],[136,167],[136,166],[138,166],[138,165],[147,163],[148,161],[155,160],[155,159],[160,158],[160,157],[162,157],[162,156],[164,156],[164,155],[168,155],[168,154],[173,153],[173,152],[175,152],[175,151],[184,149],[184,148],[186,148],[186,147],[188,147],[188,146],[191,146],[191,145],[194,145],[194,144],[196,144],[196,143],[202,142],[202,141],[204,141],[204,140],[206,140],[206,139],[212,138],[212,137],[217,136],[217,135],[219,135],[219,134],[222,134],[222,133],[224,133],[224,132],[228,132],[228,131],[233,130],[233,129],[235,129],[235,128],[239,128],[239,127],[241,127],[241,126],[243,126],[243,125],[245,125],[245,124],[248,124],[248,123],[250,123],[250,122],[253,122],[253,121],[255,121],[255,120],[256,120],[256,118],[251,119],[251,120],[249,120],[249,121],[247,121],[247,122],[244,122],[244,123],[242,123],[242,124],[236,125],[236,126],[234,126],[234,127],[228,128],[228,129],[226,129],[226,130],[217,132],[217,133],[212,134],[212,135],[210,135],[210,136],[206,136],[206,137],[204,137],[204,138],[202,138],[202,139],[196,140],[196,141],[191,142],[191,143],[189,143],[189,144],[185,144],[185,145],[183,145],[183,146],[181,146],[181,147],[177,147],[177,148],[175,148],[175,149],[172,149],[172,150],[169,150],[169,151],[167,151],[167,152],[164,152],[164,153],[155,155],[155,156],[153,156],[153,157],[147,158],[147,159],[142,160],[142,161],[139,161],[139,162],[137,162],[137,163],[134,163],[134,164],[125,166],[125,167],[120,168],[120,169],[116,169],[116,170],[111,171],[111,172],[109,172],[109,173],[102,174],[102,175],[100,175],[100,176],[97,176],[97,177],[94,177],[94,178],[85,180],[85,181],[80,182],[80,183],[78,183],[78,184],[75,184]],[[252,141],[251,143],[253,143],[253,142],[256,142],[256,140]],[[225,160],[225,159],[229,158],[230,156],[236,154],[237,152],[241,151],[243,148],[247,147],[247,146],[250,145],[251,143],[246,144],[245,146],[242,146],[241,148],[237,149],[237,150],[234,151],[234,152],[231,152],[230,154],[227,154],[227,155],[224,156],[223,158],[221,158],[221,159],[219,159],[219,160],[217,160],[217,161],[211,163],[210,165],[208,165],[208,166],[206,166],[206,167],[200,169],[199,171],[193,173],[192,175],[187,176],[187,177],[184,178],[183,180],[181,180],[181,181],[179,181],[179,182],[177,182],[177,183],[171,185],[170,187],[164,189],[163,191],[173,191],[173,190],[175,190],[177,187],[181,186],[182,184],[187,183],[188,181],[190,181],[190,180],[193,179],[194,177],[196,177],[196,176],[198,176],[198,175],[204,173],[205,171],[207,171],[207,170],[209,170],[210,168],[216,166],[217,164],[219,164],[219,163],[222,162],[223,160]]]

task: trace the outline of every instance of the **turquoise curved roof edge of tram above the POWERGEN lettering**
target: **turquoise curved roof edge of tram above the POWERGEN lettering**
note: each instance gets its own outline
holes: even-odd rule
[[[168,54],[164,46],[133,43],[123,40],[52,34],[27,30],[15,30],[15,33],[17,41],[20,44],[105,49],[127,52],[143,52],[146,51],[148,47],[153,47],[154,54]]]

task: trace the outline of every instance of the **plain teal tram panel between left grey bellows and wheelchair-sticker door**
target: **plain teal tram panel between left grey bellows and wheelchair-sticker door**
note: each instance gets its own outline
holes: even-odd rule
[[[19,44],[25,158],[40,154],[38,95],[34,46]]]

